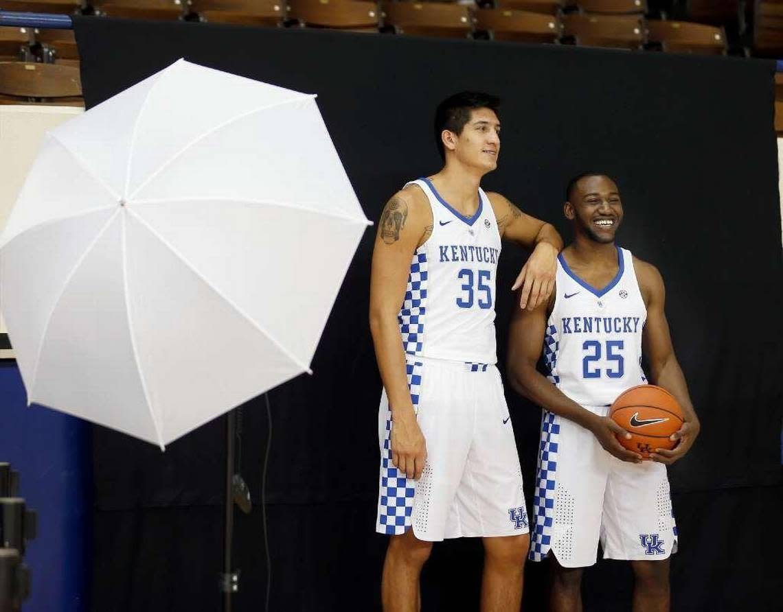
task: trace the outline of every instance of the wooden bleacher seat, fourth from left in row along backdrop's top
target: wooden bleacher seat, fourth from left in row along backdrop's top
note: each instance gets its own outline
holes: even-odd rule
[[[288,18],[303,27],[359,32],[377,32],[380,22],[377,4],[362,0],[289,0]]]

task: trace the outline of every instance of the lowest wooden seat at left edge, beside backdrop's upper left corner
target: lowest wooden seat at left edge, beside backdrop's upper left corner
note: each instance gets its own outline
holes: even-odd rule
[[[0,103],[83,106],[78,68],[49,63],[0,63]]]

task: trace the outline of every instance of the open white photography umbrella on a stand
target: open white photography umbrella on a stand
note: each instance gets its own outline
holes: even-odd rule
[[[309,371],[368,224],[314,96],[179,60],[51,131],[0,237],[28,401],[163,448]]]

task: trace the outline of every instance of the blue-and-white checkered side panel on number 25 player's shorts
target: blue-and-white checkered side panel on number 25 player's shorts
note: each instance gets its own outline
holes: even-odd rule
[[[560,419],[543,411],[536,488],[533,490],[533,520],[530,535],[530,560],[540,561],[549,553],[554,526],[554,490],[557,472],[557,445]]]

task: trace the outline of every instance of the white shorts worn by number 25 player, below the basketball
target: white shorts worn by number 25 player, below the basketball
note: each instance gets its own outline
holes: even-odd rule
[[[621,461],[590,430],[544,410],[531,531],[534,561],[551,551],[563,567],[593,565],[599,541],[604,559],[666,559],[677,551],[666,466]]]

